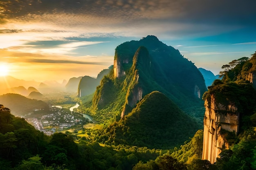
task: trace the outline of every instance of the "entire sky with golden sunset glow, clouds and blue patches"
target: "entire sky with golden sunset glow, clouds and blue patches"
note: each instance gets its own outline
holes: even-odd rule
[[[1,0],[0,72],[36,81],[96,77],[119,44],[155,35],[217,75],[255,53],[255,7],[255,0]]]

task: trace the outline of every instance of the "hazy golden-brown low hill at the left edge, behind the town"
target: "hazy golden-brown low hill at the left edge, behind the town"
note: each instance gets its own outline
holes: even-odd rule
[[[16,116],[33,113],[35,109],[49,111],[45,102],[13,93],[0,95],[0,103],[11,109],[12,114]]]

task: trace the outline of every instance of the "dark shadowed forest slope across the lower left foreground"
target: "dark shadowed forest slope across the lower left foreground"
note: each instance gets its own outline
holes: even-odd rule
[[[138,162],[154,160],[164,153],[146,147],[99,145],[84,139],[75,143],[69,132],[46,136],[0,106],[2,170],[131,170]]]

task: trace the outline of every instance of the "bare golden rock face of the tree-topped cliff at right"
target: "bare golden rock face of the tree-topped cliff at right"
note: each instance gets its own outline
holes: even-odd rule
[[[233,104],[225,106],[216,101],[214,95],[211,95],[210,101],[208,100],[206,99],[204,103],[206,110],[204,114],[202,159],[207,159],[214,163],[221,150],[229,148],[221,129],[237,133],[239,129],[239,113],[236,106]]]

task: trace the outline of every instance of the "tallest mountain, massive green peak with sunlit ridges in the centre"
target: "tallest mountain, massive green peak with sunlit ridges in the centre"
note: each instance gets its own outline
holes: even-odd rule
[[[202,117],[199,108],[206,90],[204,78],[192,62],[148,35],[117,46],[113,69],[97,87],[92,108],[124,117],[145,95],[159,91],[186,113]]]

